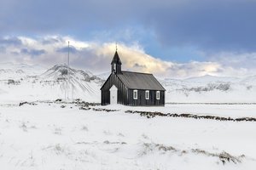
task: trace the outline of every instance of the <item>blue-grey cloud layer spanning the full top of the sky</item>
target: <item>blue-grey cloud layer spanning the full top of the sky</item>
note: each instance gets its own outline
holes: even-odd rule
[[[147,43],[148,34],[166,49],[192,46],[214,53],[252,53],[255,7],[253,0],[9,0],[1,3],[0,35],[59,33],[112,42],[124,37],[135,41],[143,30],[142,41]],[[101,32],[103,37],[98,36]]]

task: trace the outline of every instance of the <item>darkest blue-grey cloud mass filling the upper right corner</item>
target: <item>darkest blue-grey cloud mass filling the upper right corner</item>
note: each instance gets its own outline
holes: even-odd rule
[[[155,8],[148,17],[162,45],[195,46],[208,52],[255,51],[251,37],[255,1],[180,1]]]

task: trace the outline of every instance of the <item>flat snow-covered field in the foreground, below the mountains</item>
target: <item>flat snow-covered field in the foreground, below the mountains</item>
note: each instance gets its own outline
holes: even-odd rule
[[[0,105],[0,165],[3,169],[254,169],[256,123],[192,118],[148,119],[129,106],[35,102]],[[253,116],[256,105],[194,105],[207,115]],[[216,110],[216,107],[218,108]],[[193,105],[148,111],[189,113]],[[221,109],[220,109],[221,108]],[[203,110],[206,110],[204,112]],[[220,110],[219,110],[220,109]],[[230,157],[230,161],[225,156]],[[233,160],[233,161],[232,161]]]

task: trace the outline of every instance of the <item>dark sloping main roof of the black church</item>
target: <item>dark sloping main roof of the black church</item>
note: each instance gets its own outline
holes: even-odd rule
[[[126,88],[144,90],[166,90],[152,74],[122,71],[121,74],[117,74],[116,76],[119,77],[120,81],[124,83]]]

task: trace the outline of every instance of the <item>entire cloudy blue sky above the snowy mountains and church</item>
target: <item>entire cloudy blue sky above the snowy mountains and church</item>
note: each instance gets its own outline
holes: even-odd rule
[[[252,76],[256,0],[0,0],[0,63],[158,77]]]

